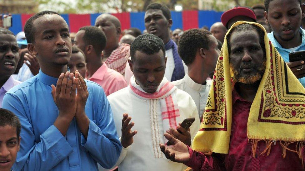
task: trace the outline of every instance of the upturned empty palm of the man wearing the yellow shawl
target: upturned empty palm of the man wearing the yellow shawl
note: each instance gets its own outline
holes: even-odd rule
[[[173,144],[171,146],[165,146],[160,143],[160,149],[165,154],[165,157],[173,162],[187,163],[190,160],[187,145],[168,133],[165,133],[164,136]]]

